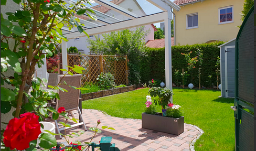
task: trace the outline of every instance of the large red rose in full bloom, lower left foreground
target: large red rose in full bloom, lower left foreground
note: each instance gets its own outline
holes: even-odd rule
[[[18,150],[29,148],[29,142],[38,138],[41,133],[39,116],[34,113],[24,113],[20,118],[13,118],[9,121],[6,130],[4,131],[4,144]]]

